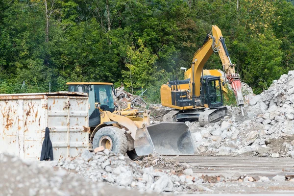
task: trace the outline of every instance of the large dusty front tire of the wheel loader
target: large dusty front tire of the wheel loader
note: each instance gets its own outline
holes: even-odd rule
[[[104,146],[114,153],[125,155],[127,148],[126,136],[122,129],[115,126],[104,126],[100,128],[93,138],[93,149]]]

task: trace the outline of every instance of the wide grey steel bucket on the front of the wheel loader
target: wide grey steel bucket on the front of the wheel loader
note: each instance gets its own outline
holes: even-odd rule
[[[146,133],[146,135],[149,135],[150,137],[150,139],[148,139],[149,147],[153,146],[154,151],[158,154],[195,154],[195,145],[192,135],[189,127],[185,123],[158,123],[150,125],[147,127]],[[147,142],[145,144],[147,144]],[[138,151],[137,148],[138,146],[136,146],[135,141],[135,150],[137,155],[141,156],[151,153],[147,150]]]

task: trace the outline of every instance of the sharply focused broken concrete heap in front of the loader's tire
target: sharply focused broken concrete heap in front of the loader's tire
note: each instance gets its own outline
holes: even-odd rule
[[[153,161],[153,164],[157,165],[157,161],[160,164],[159,159]],[[95,182],[107,182],[141,191],[185,192],[191,189],[191,186],[200,186],[203,182],[202,178],[192,176],[192,169],[174,165],[177,167],[171,167],[169,170],[144,167],[140,162],[137,164],[122,154],[116,155],[107,149],[97,153],[84,151],[79,157],[68,158],[58,163],[59,167]]]

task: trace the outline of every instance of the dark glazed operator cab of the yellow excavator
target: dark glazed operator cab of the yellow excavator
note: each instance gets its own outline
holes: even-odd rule
[[[221,78],[219,76],[204,75],[201,81],[201,97],[209,108],[223,105]]]

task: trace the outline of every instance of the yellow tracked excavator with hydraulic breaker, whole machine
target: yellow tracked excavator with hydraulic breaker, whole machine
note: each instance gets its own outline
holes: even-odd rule
[[[172,78],[161,86],[161,104],[175,109],[163,117],[164,122],[198,119],[199,125],[204,126],[220,120],[227,114],[227,108],[223,106],[224,83],[221,82],[221,77],[203,74],[204,64],[213,52],[219,53],[226,79],[231,84],[237,105],[241,107],[244,115],[240,75],[235,72],[235,64],[231,62],[220,28],[212,25],[212,30],[207,34],[202,47],[194,54],[190,78]]]

